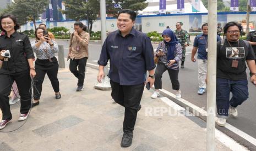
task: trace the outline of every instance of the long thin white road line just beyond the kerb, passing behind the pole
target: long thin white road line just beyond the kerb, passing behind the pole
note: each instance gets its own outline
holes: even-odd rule
[[[172,94],[171,92],[169,92],[169,91],[167,91],[165,89],[161,89],[160,91],[164,92],[165,94],[167,94],[167,95],[169,95],[169,96],[171,96],[173,98],[176,97],[175,94]],[[195,111],[199,112],[201,115],[207,116],[207,112],[204,109],[202,109],[202,108],[200,108],[198,106],[195,106],[195,104],[190,103],[187,100],[184,100],[183,98],[179,98],[177,100],[179,100],[182,103],[186,104],[188,107],[193,108]],[[216,117],[215,120],[217,120],[217,119],[218,118]],[[231,124],[226,123],[225,127],[228,130],[236,133],[238,136],[241,136],[242,138],[244,138],[244,140],[247,140],[248,142],[250,142],[250,143],[254,144],[254,146],[256,146],[256,139],[254,137],[252,137],[252,136],[248,135],[247,133],[237,129],[235,126],[232,126]]]

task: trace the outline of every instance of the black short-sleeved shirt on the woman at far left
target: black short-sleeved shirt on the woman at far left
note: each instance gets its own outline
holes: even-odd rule
[[[2,35],[0,37],[0,50],[10,50],[10,58],[3,61],[0,73],[7,74],[17,73],[29,69],[28,59],[35,58],[29,37],[26,34],[14,32],[10,35]],[[8,67],[7,67],[8,63]]]

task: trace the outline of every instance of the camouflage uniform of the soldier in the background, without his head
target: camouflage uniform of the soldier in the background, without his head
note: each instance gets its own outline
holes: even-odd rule
[[[181,42],[181,45],[182,45],[181,61],[185,61],[185,54],[186,54],[185,44],[187,43],[189,45],[189,42],[190,42],[188,32],[181,29],[180,31],[175,30],[174,34],[176,35],[176,37],[178,38],[179,42]]]

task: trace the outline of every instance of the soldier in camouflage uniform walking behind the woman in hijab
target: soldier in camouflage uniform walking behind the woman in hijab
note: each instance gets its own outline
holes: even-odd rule
[[[181,42],[182,45],[182,58],[181,58],[181,68],[184,68],[184,62],[185,62],[185,54],[186,54],[186,47],[189,46],[189,35],[186,30],[183,30],[181,28],[182,22],[177,22],[176,23],[176,30],[173,31],[173,33],[176,35],[178,38],[179,42]]]

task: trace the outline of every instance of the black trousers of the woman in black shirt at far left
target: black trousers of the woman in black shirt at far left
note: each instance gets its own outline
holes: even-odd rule
[[[20,95],[20,113],[25,114],[29,112],[31,107],[31,94],[29,92],[31,84],[31,78],[29,70],[24,72],[18,72],[11,74],[0,73],[0,108],[3,113],[4,120],[12,119],[12,113],[10,112],[9,95],[13,82],[17,83]]]

